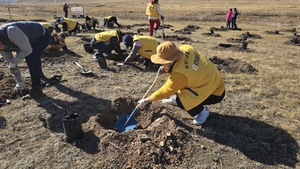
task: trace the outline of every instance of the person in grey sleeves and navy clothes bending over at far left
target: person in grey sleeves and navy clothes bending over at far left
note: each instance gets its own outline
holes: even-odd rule
[[[48,29],[37,22],[19,21],[0,26],[0,54],[4,57],[16,80],[14,91],[24,95],[26,86],[22,81],[18,63],[25,58],[31,77],[31,91],[22,99],[41,95],[41,55],[51,41]],[[12,52],[17,52],[14,57]]]

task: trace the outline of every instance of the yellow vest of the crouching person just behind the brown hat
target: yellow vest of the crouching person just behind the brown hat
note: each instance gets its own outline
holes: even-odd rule
[[[156,54],[156,47],[158,46],[158,41],[151,36],[133,36],[134,41],[140,41],[142,47],[139,49],[138,54],[150,59],[152,55]]]

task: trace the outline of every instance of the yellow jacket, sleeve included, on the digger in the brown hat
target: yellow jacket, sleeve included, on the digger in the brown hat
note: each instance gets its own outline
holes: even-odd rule
[[[168,80],[151,99],[158,101],[177,93],[189,111],[210,95],[221,96],[225,86],[217,67],[190,45],[181,45],[179,49],[185,53],[174,63]]]

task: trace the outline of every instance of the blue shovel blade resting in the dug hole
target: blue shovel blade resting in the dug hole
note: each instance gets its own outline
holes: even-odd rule
[[[115,123],[115,128],[119,132],[124,132],[128,130],[133,130],[137,125],[137,121],[134,118],[128,119],[130,116],[126,113],[123,113],[120,118]],[[127,123],[126,123],[127,122]]]

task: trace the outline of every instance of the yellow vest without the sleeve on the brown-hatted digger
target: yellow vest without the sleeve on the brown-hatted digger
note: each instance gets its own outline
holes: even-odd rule
[[[172,72],[187,78],[186,88],[177,92],[184,108],[191,110],[211,94],[221,96],[225,86],[217,67],[191,45],[181,45],[179,49],[185,53],[175,62]]]

